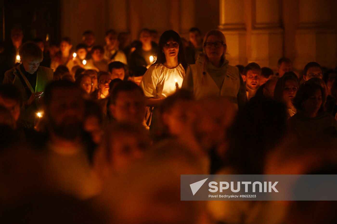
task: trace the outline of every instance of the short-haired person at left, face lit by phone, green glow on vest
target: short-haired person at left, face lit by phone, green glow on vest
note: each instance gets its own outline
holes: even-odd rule
[[[24,102],[22,118],[34,124],[44,88],[53,80],[53,69],[39,66],[43,53],[35,43],[24,43],[19,49],[19,56],[21,64],[5,73],[3,84],[10,83],[19,88]]]

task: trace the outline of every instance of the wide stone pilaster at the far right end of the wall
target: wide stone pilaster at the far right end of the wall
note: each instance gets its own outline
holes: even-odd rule
[[[337,65],[337,30],[333,18],[333,0],[299,0],[299,26],[296,29],[294,65],[303,70],[308,62],[335,68]]]

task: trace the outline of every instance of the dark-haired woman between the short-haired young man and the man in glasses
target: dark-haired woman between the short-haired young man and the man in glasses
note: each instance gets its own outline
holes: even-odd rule
[[[296,114],[296,108],[293,105],[294,97],[298,88],[298,78],[294,72],[286,72],[279,78],[275,85],[274,99],[284,103],[287,106],[287,117]]]

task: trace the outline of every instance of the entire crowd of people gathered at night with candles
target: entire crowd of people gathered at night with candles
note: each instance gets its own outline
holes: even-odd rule
[[[198,28],[74,46],[0,46],[1,220],[337,222],[334,202],[180,201],[182,174],[336,174],[336,69],[232,66]]]

